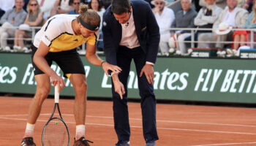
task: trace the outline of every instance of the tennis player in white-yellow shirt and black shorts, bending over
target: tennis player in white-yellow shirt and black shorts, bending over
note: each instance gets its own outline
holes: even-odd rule
[[[86,119],[86,76],[82,61],[76,47],[86,42],[86,59],[96,66],[102,66],[105,74],[108,70],[121,72],[121,68],[102,61],[96,54],[97,34],[100,18],[97,12],[80,5],[80,15],[55,15],[37,32],[32,45],[32,64],[37,91],[29,107],[29,118],[21,146],[34,146],[34,126],[39,116],[43,101],[50,92],[50,81],[60,90],[65,82],[53,69],[52,61],[56,61],[64,77],[68,77],[75,90],[74,115],[76,122],[76,146],[89,145],[85,139]]]

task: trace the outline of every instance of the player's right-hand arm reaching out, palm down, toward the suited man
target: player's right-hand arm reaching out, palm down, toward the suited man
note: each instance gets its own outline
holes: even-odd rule
[[[106,75],[108,75],[108,70],[113,72],[121,72],[121,68],[118,66],[113,66],[108,64],[108,62],[102,61],[96,54],[96,46],[86,43],[86,59],[95,66],[102,66]]]

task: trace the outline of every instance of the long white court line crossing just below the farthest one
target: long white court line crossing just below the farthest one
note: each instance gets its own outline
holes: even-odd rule
[[[3,118],[0,117],[0,119],[5,120],[27,120],[25,118]],[[38,119],[37,122],[47,122],[48,120],[40,120]],[[66,123],[72,123],[75,124],[75,122],[66,122]],[[86,125],[94,125],[94,126],[114,126],[113,124],[102,124],[102,123],[86,123]],[[131,128],[142,128],[142,126],[130,126]],[[175,130],[175,131],[197,131],[197,132],[210,132],[210,133],[222,133],[222,134],[246,134],[246,135],[256,135],[253,133],[244,133],[244,132],[232,132],[232,131],[207,131],[207,130],[197,130],[197,129],[186,129],[186,128],[157,128],[157,129],[163,129],[163,130]]]

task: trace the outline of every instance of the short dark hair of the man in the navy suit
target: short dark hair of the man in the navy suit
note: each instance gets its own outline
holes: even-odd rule
[[[129,0],[112,0],[111,5],[111,12],[117,15],[129,12],[129,7],[131,6]]]

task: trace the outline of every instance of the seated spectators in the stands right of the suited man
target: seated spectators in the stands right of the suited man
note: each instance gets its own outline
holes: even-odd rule
[[[173,11],[168,8],[166,0],[151,1],[151,4],[154,4],[153,12],[159,28],[163,30],[176,28],[170,31],[170,37],[167,37],[169,34],[166,31],[160,31],[159,50],[161,53],[175,52],[181,55],[190,53],[189,47],[192,46],[187,42],[192,41],[192,37],[195,41],[193,47],[217,48],[218,55],[226,53],[238,55],[239,47],[250,47],[251,31],[246,31],[245,28],[256,28],[255,0],[179,1],[181,9],[175,12],[175,16],[171,16]],[[198,4],[195,4],[196,2]],[[197,12],[196,6],[198,5],[200,9]],[[166,22],[171,22],[171,24]],[[197,31],[192,33],[185,28],[197,28]],[[241,28],[244,29],[241,30]],[[166,49],[166,44],[170,50]]]

